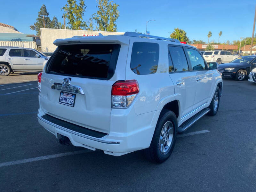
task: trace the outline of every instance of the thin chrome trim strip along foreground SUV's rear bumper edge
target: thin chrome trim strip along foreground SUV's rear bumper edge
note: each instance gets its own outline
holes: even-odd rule
[[[77,136],[80,136],[80,137],[84,137],[86,139],[90,139],[90,140],[94,140],[94,141],[98,141],[98,142],[101,142],[101,143],[107,143],[107,144],[120,144],[120,141],[106,141],[106,140],[101,140],[101,139],[97,139],[97,138],[94,138],[94,137],[91,137],[91,136],[88,136],[88,135],[84,135],[84,134],[81,134],[81,133],[78,133],[78,132],[74,132],[72,130],[69,130],[65,127],[61,127],[60,125],[57,125],[57,124],[53,124],[52,122],[50,121],[47,121],[45,120],[44,118],[40,117],[38,114],[37,114],[37,118],[40,119],[41,121],[43,121],[44,123],[47,123],[49,125],[52,125],[56,128],[59,128],[63,131],[66,131],[66,132],[69,132],[69,133],[72,133],[74,135],[77,135]]]

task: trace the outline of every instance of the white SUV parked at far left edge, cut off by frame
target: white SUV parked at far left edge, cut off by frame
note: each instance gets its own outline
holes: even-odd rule
[[[0,76],[16,71],[42,71],[49,58],[35,49],[0,47]]]

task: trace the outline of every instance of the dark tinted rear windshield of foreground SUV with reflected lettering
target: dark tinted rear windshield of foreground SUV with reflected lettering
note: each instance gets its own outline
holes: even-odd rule
[[[47,73],[109,80],[115,73],[118,44],[76,44],[59,46]]]

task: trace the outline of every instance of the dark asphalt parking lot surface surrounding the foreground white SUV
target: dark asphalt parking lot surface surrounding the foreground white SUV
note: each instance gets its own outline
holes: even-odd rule
[[[224,79],[216,116],[163,164],[59,144],[41,127],[37,73],[0,77],[0,191],[256,191],[256,84]]]

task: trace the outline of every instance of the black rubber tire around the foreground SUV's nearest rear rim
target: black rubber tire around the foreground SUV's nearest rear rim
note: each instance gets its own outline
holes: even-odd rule
[[[170,146],[168,147],[168,149],[163,153],[161,152],[160,149],[160,144],[159,144],[159,140],[160,140],[160,135],[162,134],[162,129],[164,129],[164,125],[170,123],[170,126],[173,127],[173,134],[172,134],[172,141]],[[170,128],[170,127],[169,127]],[[163,110],[159,116],[159,119],[157,121],[156,124],[156,129],[153,135],[153,138],[151,140],[151,144],[149,146],[149,148],[144,149],[144,154],[145,156],[153,162],[156,163],[163,163],[165,160],[167,160],[169,158],[169,156],[171,155],[175,142],[176,142],[176,138],[177,138],[177,132],[178,132],[178,125],[177,125],[177,117],[176,115],[169,110]],[[167,133],[165,133],[167,134]],[[162,137],[162,135],[161,135]],[[164,140],[164,139],[163,139]],[[163,144],[165,146],[165,144]],[[161,148],[163,148],[164,146],[162,145]],[[167,146],[166,146],[167,147]],[[165,147],[164,147],[165,148]]]

